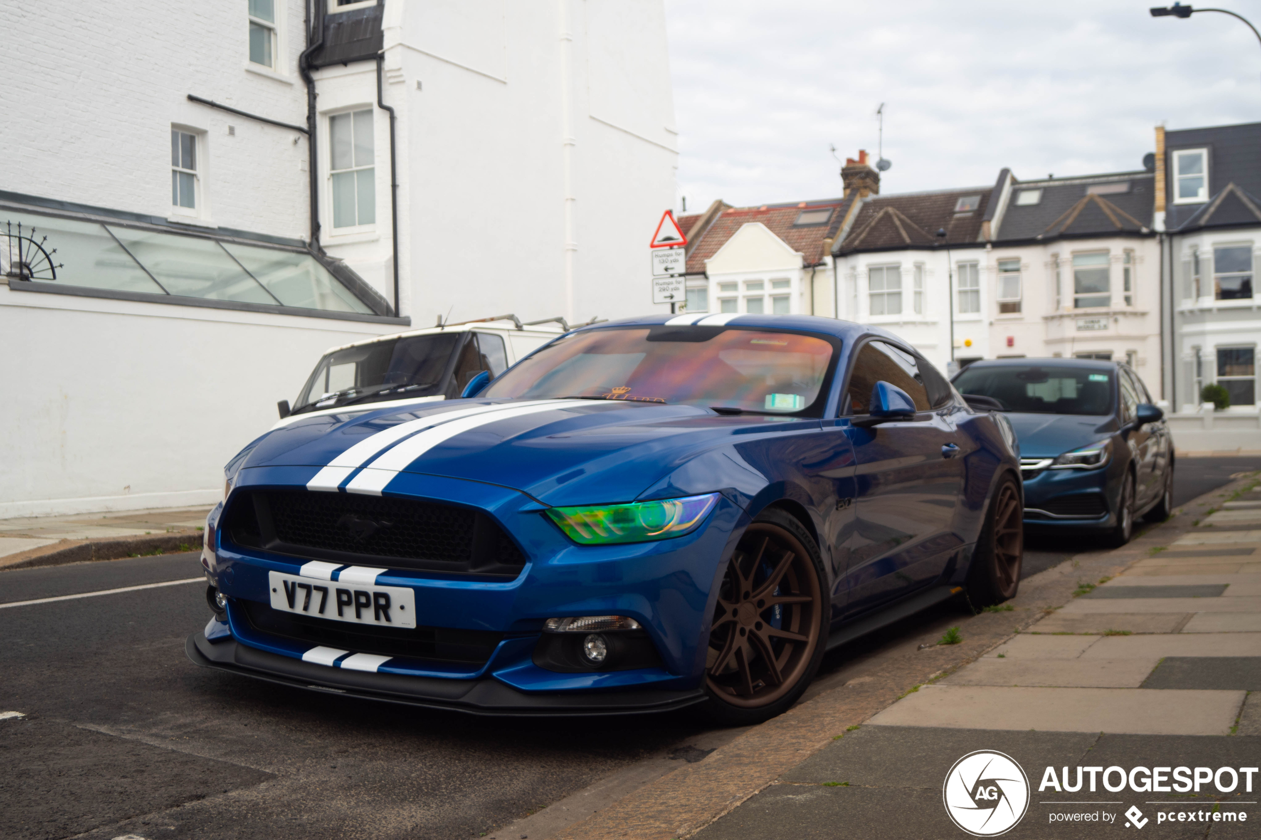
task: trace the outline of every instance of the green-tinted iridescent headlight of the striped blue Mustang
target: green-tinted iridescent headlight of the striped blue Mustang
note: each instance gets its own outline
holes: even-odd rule
[[[710,492],[629,505],[549,508],[547,515],[580,545],[646,543],[682,536],[694,530],[718,504],[718,496],[719,494]]]

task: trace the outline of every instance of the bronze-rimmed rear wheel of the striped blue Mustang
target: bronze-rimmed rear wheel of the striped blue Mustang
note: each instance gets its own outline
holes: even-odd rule
[[[965,588],[968,603],[979,610],[1014,598],[1023,564],[1024,508],[1016,480],[1008,475],[994,491],[976,539]]]

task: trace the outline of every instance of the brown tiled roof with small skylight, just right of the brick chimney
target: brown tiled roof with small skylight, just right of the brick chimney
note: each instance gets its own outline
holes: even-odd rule
[[[869,196],[835,253],[973,244],[981,238],[981,220],[992,191],[990,186],[976,186]],[[967,198],[975,198],[976,207],[956,213],[960,200]],[[946,236],[938,238],[941,229]]]

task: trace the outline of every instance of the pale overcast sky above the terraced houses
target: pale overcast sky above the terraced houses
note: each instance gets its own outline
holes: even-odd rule
[[[839,196],[828,146],[875,157],[881,102],[881,193],[1141,169],[1158,123],[1261,121],[1256,37],[1156,1],[666,0],[680,195]]]

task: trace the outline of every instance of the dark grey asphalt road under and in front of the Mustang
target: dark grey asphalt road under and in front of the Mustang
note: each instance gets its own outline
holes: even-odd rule
[[[1187,460],[1177,500],[1247,468],[1261,458]],[[1025,576],[1082,550],[1049,548]],[[26,715],[0,719],[0,836],[477,837],[702,732],[683,714],[469,718],[199,669],[184,637],[209,617],[200,582],[3,606],[198,577],[197,554],[0,573],[0,713]],[[957,610],[830,655],[812,693]]]

